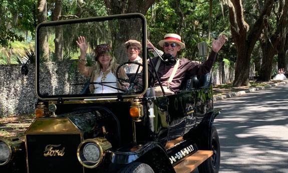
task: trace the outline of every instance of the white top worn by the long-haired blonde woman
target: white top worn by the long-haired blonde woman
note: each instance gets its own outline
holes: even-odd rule
[[[101,78],[102,78],[102,73],[100,74],[100,76],[96,80],[94,80],[94,82],[101,82]],[[100,84],[94,84],[94,87],[95,87],[94,94],[119,92],[117,89],[114,89],[114,88],[117,88],[117,79],[112,74],[111,71],[107,74],[106,79],[102,82],[114,82],[114,83],[104,83],[104,85],[108,85],[108,86],[104,86],[104,85],[100,85]],[[112,86],[114,88],[111,88],[109,86]]]

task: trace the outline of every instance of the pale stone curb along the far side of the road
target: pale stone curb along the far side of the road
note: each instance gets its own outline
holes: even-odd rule
[[[225,99],[225,98],[231,98],[231,97],[235,97],[235,96],[240,96],[240,95],[243,95],[245,93],[251,93],[251,92],[259,91],[259,90],[262,90],[262,89],[276,87],[278,85],[283,85],[283,84],[286,84],[286,83],[288,83],[288,80],[283,81],[283,82],[274,83],[274,84],[271,84],[271,85],[265,85],[265,86],[262,86],[262,87],[251,88],[251,89],[248,89],[248,90],[245,90],[245,91],[233,92],[233,93],[230,93],[230,94],[213,97],[213,101],[222,100],[222,99]]]

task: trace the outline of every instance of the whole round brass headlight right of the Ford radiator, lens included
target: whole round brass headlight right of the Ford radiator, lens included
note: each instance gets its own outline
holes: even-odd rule
[[[105,152],[110,148],[111,143],[104,137],[86,139],[79,144],[77,157],[83,166],[94,168],[101,163]]]

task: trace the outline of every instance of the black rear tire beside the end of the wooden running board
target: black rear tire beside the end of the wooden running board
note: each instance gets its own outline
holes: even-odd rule
[[[198,166],[199,173],[217,173],[220,168],[220,142],[215,126],[212,126],[211,144],[213,155]]]

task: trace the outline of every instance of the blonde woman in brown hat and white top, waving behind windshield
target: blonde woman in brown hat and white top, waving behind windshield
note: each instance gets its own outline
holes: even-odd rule
[[[121,92],[117,90],[117,88],[125,90],[129,87],[129,83],[122,82],[124,85],[121,85],[117,82],[116,70],[119,65],[116,63],[112,49],[108,44],[96,46],[96,49],[94,50],[96,64],[93,67],[88,67],[86,66],[87,60],[85,59],[88,43],[86,42],[85,37],[78,37],[76,43],[80,48],[80,57],[78,60],[79,72],[87,77],[91,77],[90,82],[104,84],[91,84],[89,87],[91,93],[117,93]],[[123,68],[119,69],[119,77],[128,79]]]

